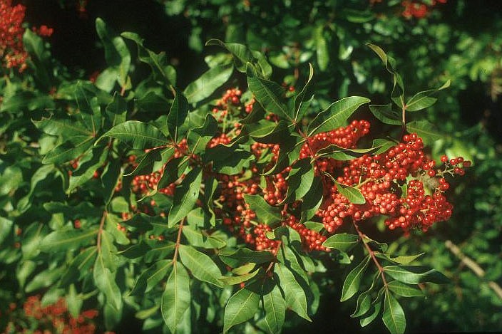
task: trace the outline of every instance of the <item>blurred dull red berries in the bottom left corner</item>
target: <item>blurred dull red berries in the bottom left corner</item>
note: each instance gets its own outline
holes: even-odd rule
[[[94,309],[84,310],[76,318],[68,312],[66,301],[59,298],[56,303],[42,306],[40,296],[30,296],[24,302],[23,308],[17,309],[15,303],[9,305],[6,313],[9,322],[1,332],[7,333],[96,333],[96,324],[93,322],[98,316]],[[33,330],[36,328],[36,330]],[[107,332],[113,334],[113,332]]]

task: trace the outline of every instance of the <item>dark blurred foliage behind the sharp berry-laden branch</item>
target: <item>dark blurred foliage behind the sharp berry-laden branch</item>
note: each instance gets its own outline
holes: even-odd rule
[[[312,63],[316,72],[313,90],[316,103],[322,108],[334,98],[347,95],[369,96],[376,104],[388,99],[390,75],[365,46],[374,43],[396,58],[396,67],[404,73],[409,92],[437,88],[451,80],[451,86],[446,93],[439,94],[438,103],[429,108],[426,116],[437,132],[444,134],[434,142],[431,155],[438,158],[446,152],[473,161],[466,177],[452,187],[450,195],[455,209],[450,221],[436,224],[427,234],[387,240],[391,247],[401,246],[408,254],[425,252],[428,255],[422,263],[451,278],[449,285],[428,286],[430,298],[402,304],[408,315],[408,330],[411,333],[502,330],[502,296],[497,296],[490,286],[490,282],[502,284],[502,35],[499,33],[502,17],[496,10],[498,1],[449,1],[436,6],[424,19],[404,19],[400,15],[401,1],[392,0],[375,4],[355,0],[138,1],[141,4],[91,0],[88,17],[83,18],[65,1],[43,1],[43,8],[37,1],[22,2],[28,8],[27,20],[31,24],[48,24],[56,33],[49,40],[53,57],[43,51],[38,40],[28,36],[28,43],[25,42],[33,55],[34,67],[45,68],[44,71],[37,71],[25,80],[6,77],[0,80],[4,96],[0,108],[1,207],[19,209],[23,207],[20,202],[28,206],[35,197],[38,203],[65,199],[65,194],[51,192],[62,188],[61,180],[46,177],[51,171],[39,168],[34,147],[29,146],[29,142],[39,140],[39,132],[30,119],[38,120],[41,110],[56,108],[57,101],[47,98],[52,87],[70,78],[86,78],[105,68],[103,45],[94,31],[96,17],[102,17],[115,31],[137,32],[145,38],[145,45],[156,52],[166,51],[170,64],[178,71],[178,84],[183,87],[207,69],[206,63],[217,61],[218,50],[204,46],[210,38],[244,43],[265,52],[277,67],[276,79],[287,85],[296,85],[305,76],[302,71],[306,70],[306,64]],[[138,63],[131,66],[135,66],[134,75],[138,77],[147,71]],[[29,88],[23,98],[30,102],[23,111],[11,112],[16,108],[7,103],[23,101],[9,100],[9,96],[16,95],[14,90],[23,86]],[[63,99],[73,99],[69,93],[64,95],[64,89],[60,88],[60,93]],[[373,119],[367,113],[358,117]],[[19,160],[20,156],[24,159]],[[38,174],[33,174],[34,170]],[[28,179],[36,187],[24,182]],[[24,217],[52,219],[51,224],[58,224],[37,208],[21,212],[16,219],[22,221]],[[33,229],[43,228],[33,226]],[[386,234],[376,231],[379,232],[381,240],[386,241]],[[36,230],[24,231],[24,254],[0,249],[2,266],[12,269],[20,256],[29,259],[33,255],[30,252],[38,252],[29,247],[38,242],[37,237]],[[1,243],[11,242],[8,239],[0,234]],[[482,277],[476,276],[449,249],[449,241],[483,268]],[[24,263],[27,267],[35,266],[29,261]],[[17,279],[27,293],[50,284],[61,274],[54,271],[52,277],[25,282],[28,275],[23,276],[23,269],[18,271]],[[24,270],[30,272],[30,268]],[[1,272],[6,275],[6,271]],[[15,294],[19,286],[6,282],[0,288],[0,301],[15,300],[19,297]],[[285,333],[314,333],[326,328],[367,333],[384,330],[379,323],[359,328],[357,320],[347,317],[355,301],[333,302],[339,300],[337,287],[341,282],[324,283],[328,289],[313,323],[294,318],[287,322]],[[122,325],[128,326],[128,323]],[[120,328],[117,333],[121,333]]]

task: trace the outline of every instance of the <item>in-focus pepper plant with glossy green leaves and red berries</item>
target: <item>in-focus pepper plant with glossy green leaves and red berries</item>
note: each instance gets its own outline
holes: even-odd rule
[[[405,94],[393,58],[369,44],[391,74],[389,104],[318,108],[312,66],[288,87],[262,53],[213,39],[208,71],[181,88],[140,36],[96,28],[108,68],[92,81],[58,81],[26,31],[31,79],[2,83],[1,111],[31,110],[38,129],[6,150],[33,171],[29,193],[2,204],[1,254],[24,293],[66,298],[75,315],[94,301],[108,330],[133,313],[143,330],[280,333],[293,313],[311,321],[326,282],[341,281],[350,317],[403,333],[405,298],[448,281],[416,263],[426,255],[375,239],[412,239],[451,216],[449,179],[471,162],[436,162],[417,113],[449,82]]]

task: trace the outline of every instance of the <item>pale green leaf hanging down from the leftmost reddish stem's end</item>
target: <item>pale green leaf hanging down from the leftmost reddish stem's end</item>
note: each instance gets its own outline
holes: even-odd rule
[[[114,310],[121,311],[122,295],[115,281],[116,273],[108,268],[106,259],[103,259],[102,251],[94,263],[93,278],[96,287],[105,295],[106,303]]]

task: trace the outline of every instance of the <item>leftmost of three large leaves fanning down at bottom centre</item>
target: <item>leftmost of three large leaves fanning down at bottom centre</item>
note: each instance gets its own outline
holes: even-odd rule
[[[246,288],[242,288],[230,297],[225,306],[223,318],[223,333],[227,333],[232,326],[250,320],[258,310],[260,295]]]

